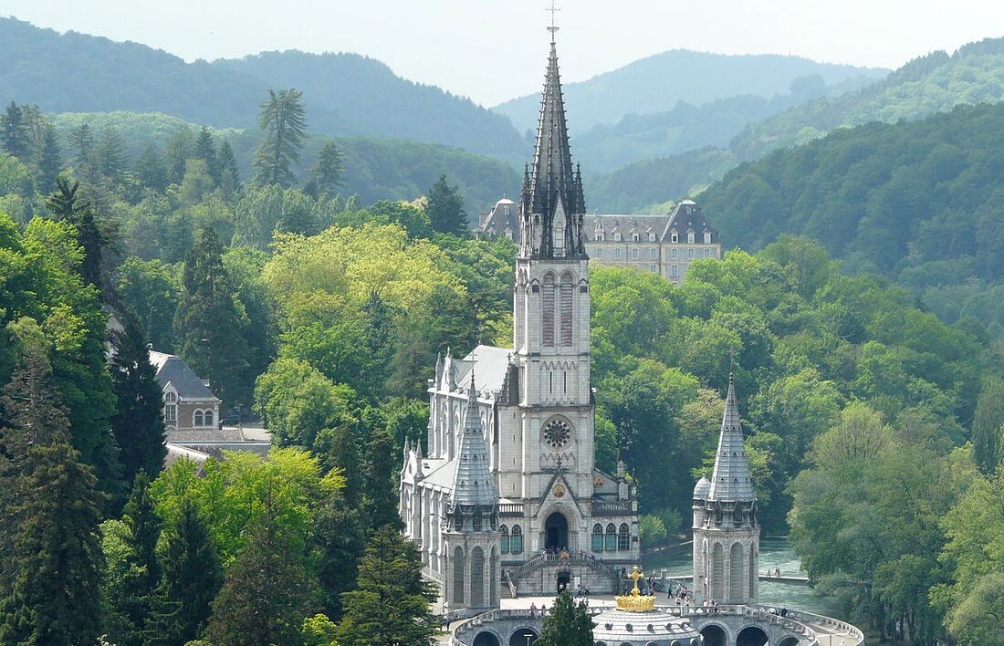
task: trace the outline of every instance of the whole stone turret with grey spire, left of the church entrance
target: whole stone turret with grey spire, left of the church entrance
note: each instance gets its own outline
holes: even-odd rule
[[[488,461],[473,371],[455,463],[443,518],[445,601],[453,608],[498,608],[499,494]]]

